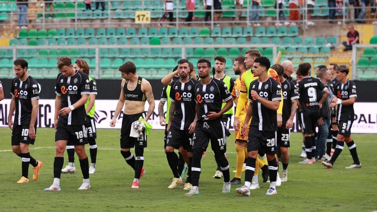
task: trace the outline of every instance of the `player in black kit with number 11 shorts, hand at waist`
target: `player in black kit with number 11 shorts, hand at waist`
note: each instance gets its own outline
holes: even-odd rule
[[[221,116],[233,106],[232,97],[224,82],[210,77],[211,62],[208,59],[199,59],[197,66],[201,80],[195,86],[196,114],[198,120],[195,126],[192,146],[191,181],[193,189],[185,195],[199,195],[200,161],[203,152],[208,147],[209,140],[211,140],[211,148],[220,163],[224,175],[222,192],[229,193],[229,163],[224,154],[227,150],[227,141]],[[222,108],[222,101],[227,103],[224,108]]]

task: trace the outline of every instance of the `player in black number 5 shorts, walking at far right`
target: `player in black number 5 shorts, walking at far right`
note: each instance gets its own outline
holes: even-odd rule
[[[361,163],[356,152],[356,144],[351,137],[351,127],[355,116],[353,104],[357,98],[356,84],[347,79],[349,72],[348,66],[337,66],[335,71],[339,82],[334,87],[334,94],[336,94],[336,97],[334,97],[333,103],[331,103],[330,107],[334,108],[338,105],[336,114],[338,116],[340,130],[337,135],[337,144],[333,156],[330,161],[322,162],[322,165],[326,166],[328,169],[332,169],[334,162],[343,150],[344,142],[346,142],[353,159],[353,163],[346,168],[361,168]]]

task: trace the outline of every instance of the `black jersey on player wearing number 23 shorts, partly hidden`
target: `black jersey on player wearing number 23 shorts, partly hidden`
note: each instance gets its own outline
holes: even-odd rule
[[[287,123],[287,120],[291,116],[292,100],[300,98],[299,93],[297,93],[296,85],[289,79],[285,79],[282,83],[283,92],[283,114],[282,114],[282,125]]]

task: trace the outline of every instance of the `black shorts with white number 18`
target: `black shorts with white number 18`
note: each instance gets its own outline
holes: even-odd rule
[[[58,122],[55,131],[55,141],[67,140],[73,145],[85,145],[88,143],[85,125],[67,125]]]

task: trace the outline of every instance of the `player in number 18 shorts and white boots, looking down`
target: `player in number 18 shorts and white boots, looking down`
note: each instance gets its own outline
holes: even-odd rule
[[[90,189],[89,160],[85,153],[88,143],[85,123],[87,116],[84,104],[90,95],[89,78],[83,72],[75,70],[67,56],[59,58],[57,68],[60,73],[56,79],[55,98],[55,145],[54,183],[44,191],[60,191],[61,168],[64,163],[64,149],[67,142],[74,143],[75,151],[83,172],[83,184],[79,190]]]

